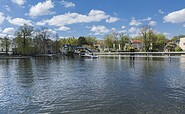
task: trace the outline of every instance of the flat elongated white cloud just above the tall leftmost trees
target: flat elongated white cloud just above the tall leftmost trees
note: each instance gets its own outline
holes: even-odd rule
[[[11,17],[7,17],[7,20],[9,23],[13,24],[13,25],[18,25],[18,26],[23,26],[24,24],[27,25],[32,25],[31,20],[26,20],[23,18],[14,18],[12,19]]]

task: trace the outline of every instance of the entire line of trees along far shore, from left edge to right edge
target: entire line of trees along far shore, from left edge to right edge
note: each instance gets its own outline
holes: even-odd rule
[[[102,49],[108,51],[129,51],[132,46],[132,40],[139,40],[142,43],[142,49],[137,51],[181,51],[181,48],[175,42],[185,35],[174,36],[171,40],[167,39],[163,34],[155,33],[152,28],[144,26],[139,31],[139,36],[131,38],[124,33],[113,32],[104,37],[102,42],[97,40],[96,37],[80,36],[79,38],[59,38],[57,33],[52,33],[47,27],[41,27],[34,30],[34,27],[29,25],[20,26],[14,34],[13,39],[13,52],[19,55],[35,55],[47,53],[59,53],[60,48],[64,44],[73,46],[86,46],[94,48],[95,45],[101,45]],[[1,47],[5,49],[8,54],[11,40],[7,36],[1,39]],[[48,48],[52,52],[48,52]],[[1,50],[2,51],[2,50]]]

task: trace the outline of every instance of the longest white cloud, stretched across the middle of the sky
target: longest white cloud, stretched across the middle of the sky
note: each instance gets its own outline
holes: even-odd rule
[[[88,15],[83,15],[79,13],[65,13],[63,15],[57,15],[49,20],[44,20],[43,22],[48,23],[52,26],[64,26],[75,23],[89,23],[89,22],[99,22],[101,20],[109,19],[110,16],[101,10],[91,10]]]

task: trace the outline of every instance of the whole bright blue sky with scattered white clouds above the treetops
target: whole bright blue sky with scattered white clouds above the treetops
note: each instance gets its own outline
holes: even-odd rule
[[[111,32],[135,37],[149,25],[170,39],[185,34],[185,0],[0,0],[0,37],[23,24],[99,39]]]

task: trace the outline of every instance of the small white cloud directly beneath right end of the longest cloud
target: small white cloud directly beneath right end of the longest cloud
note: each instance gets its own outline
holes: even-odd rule
[[[105,26],[99,25],[99,26],[95,26],[93,25],[91,28],[91,32],[94,32],[95,35],[103,35],[105,33],[110,32],[109,29],[107,29]]]

